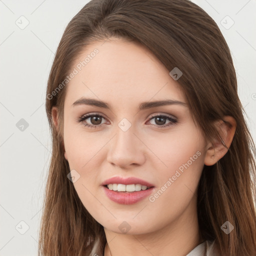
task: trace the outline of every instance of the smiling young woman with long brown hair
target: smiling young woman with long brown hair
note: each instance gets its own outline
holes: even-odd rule
[[[187,0],[92,0],[49,74],[40,255],[256,254],[255,147],[229,48]]]

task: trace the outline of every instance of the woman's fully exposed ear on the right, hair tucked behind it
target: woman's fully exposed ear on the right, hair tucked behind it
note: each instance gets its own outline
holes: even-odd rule
[[[218,137],[214,138],[213,144],[209,142],[206,145],[206,153],[204,157],[205,165],[213,165],[225,155],[234,136],[236,121],[232,116],[226,115],[221,120],[217,120],[214,125],[216,125],[219,135],[226,147],[221,143],[221,140]]]

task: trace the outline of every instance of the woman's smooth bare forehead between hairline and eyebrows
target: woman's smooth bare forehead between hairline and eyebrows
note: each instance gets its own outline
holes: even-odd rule
[[[76,74],[67,84],[65,105],[71,106],[82,96],[116,104],[164,98],[185,102],[180,85],[169,76],[170,70],[137,42],[93,42],[75,58],[72,70]]]

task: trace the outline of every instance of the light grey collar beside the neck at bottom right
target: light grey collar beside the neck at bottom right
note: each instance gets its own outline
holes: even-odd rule
[[[186,256],[219,256],[214,241],[206,240],[193,248]]]

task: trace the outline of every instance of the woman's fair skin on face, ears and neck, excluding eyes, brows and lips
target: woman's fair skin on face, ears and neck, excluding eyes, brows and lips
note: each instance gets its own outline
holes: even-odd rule
[[[186,255],[203,241],[196,212],[203,165],[214,164],[227,149],[217,139],[214,145],[205,141],[187,105],[139,111],[144,101],[175,99],[186,103],[178,80],[173,80],[169,70],[140,44],[117,38],[102,43],[92,43],[75,59],[72,68],[94,48],[99,50],[66,88],[64,157],[70,170],[80,175],[73,185],[84,207],[104,227],[105,256]],[[111,110],[72,106],[81,96],[103,100]],[[88,113],[103,115],[99,121],[102,126],[85,127],[84,123],[95,125],[92,118],[77,122]],[[161,128],[153,114],[171,116],[177,122]],[[52,108],[52,118],[57,127],[56,107]],[[123,118],[131,124],[125,132],[118,126]],[[229,147],[236,124],[230,116],[223,119],[230,125],[222,121],[215,125]],[[153,202],[146,197],[131,205],[117,204],[100,186],[112,176],[135,176],[154,184],[154,194],[197,151],[200,156]],[[123,221],[130,226],[125,234],[118,228]]]

